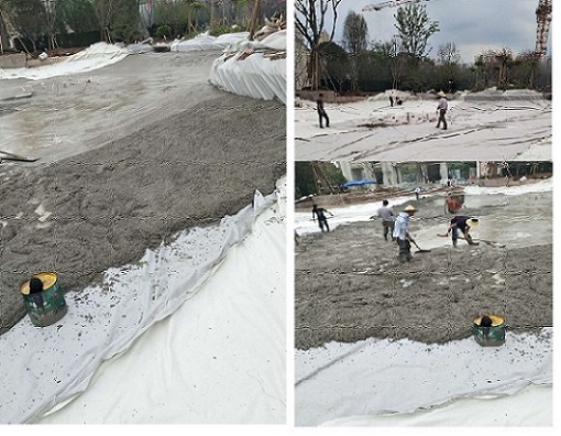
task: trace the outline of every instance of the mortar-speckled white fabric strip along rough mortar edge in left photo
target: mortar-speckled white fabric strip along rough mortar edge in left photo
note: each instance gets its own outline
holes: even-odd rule
[[[138,264],[108,270],[101,286],[66,294],[68,314],[59,321],[40,328],[25,317],[0,336],[0,423],[38,418],[84,391],[105,360],[193,297],[275,200],[276,193],[256,192],[253,207],[220,225],[180,232],[173,243],[147,250]]]

